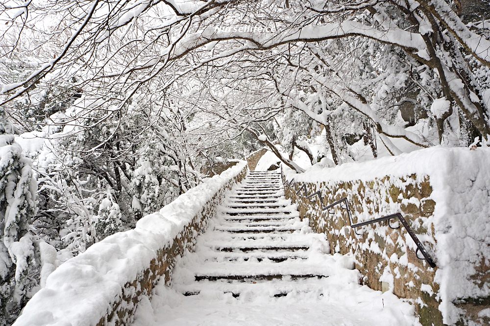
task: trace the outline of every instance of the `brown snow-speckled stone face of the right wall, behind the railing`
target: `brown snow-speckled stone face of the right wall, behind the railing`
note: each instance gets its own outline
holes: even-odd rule
[[[320,184],[298,182],[297,189],[302,185],[306,185],[308,194],[321,190],[323,206],[346,196],[353,223],[400,211],[415,233],[421,235],[419,238],[429,253],[433,253],[434,230],[428,229],[425,223],[435,208],[435,202],[430,198],[432,187],[428,177],[417,180],[416,175],[406,178],[387,176],[372,181]],[[300,216],[310,219],[313,231],[327,235],[332,253],[354,256],[356,268],[363,275],[360,283],[410,299],[422,325],[443,325],[439,285],[434,281],[437,267],[430,268],[425,260],[417,258],[417,247],[403,227],[391,229],[385,221],[362,227],[362,231],[358,229],[362,235],[356,235],[349,226],[346,210],[337,206],[330,211],[332,214],[321,211],[317,197],[312,203],[304,198],[303,191],[296,195],[294,186],[285,186],[285,193],[298,204]],[[392,226],[396,226],[394,224],[392,222]]]

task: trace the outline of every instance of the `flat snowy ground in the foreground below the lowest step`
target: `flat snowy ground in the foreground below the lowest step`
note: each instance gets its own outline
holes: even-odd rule
[[[151,303],[140,303],[133,325],[419,325],[412,307],[390,293],[354,283],[330,284],[324,290],[328,295],[235,299],[222,293],[185,297],[159,285]]]

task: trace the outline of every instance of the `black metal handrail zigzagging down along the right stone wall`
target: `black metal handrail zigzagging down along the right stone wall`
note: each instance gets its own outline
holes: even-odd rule
[[[286,178],[284,177],[284,174],[282,172],[282,166],[281,166],[281,180],[284,186],[292,187],[294,186],[294,190],[296,195],[299,195],[301,193],[301,190],[304,192],[304,198],[310,200],[310,202],[314,203],[316,200],[314,199],[315,196],[318,197],[319,201],[319,206],[322,211],[326,210],[329,214],[334,214],[334,211],[330,211],[331,208],[340,205],[340,208],[343,210],[347,211],[347,215],[349,217],[349,224],[351,229],[356,233],[357,235],[362,235],[362,233],[357,233],[356,229],[369,225],[369,224],[374,224],[374,223],[379,223],[383,221],[388,221],[388,226],[392,229],[399,229],[400,226],[398,225],[397,227],[392,226],[391,220],[392,219],[398,219],[398,221],[401,223],[401,225],[407,230],[407,233],[410,235],[412,240],[414,240],[415,244],[417,245],[417,250],[415,251],[415,255],[417,256],[418,259],[424,259],[427,261],[427,264],[429,264],[430,267],[434,268],[436,267],[436,263],[432,259],[432,257],[429,255],[425,247],[423,246],[422,242],[418,239],[417,235],[414,233],[410,225],[408,225],[407,220],[403,217],[403,215],[400,212],[374,218],[372,220],[364,221],[364,222],[359,222],[359,223],[354,223],[352,220],[352,213],[349,208],[349,202],[347,197],[343,197],[341,200],[338,200],[332,204],[323,206],[323,197],[321,196],[321,190],[316,191],[314,193],[308,194],[308,189],[306,188],[306,185],[303,184],[303,186],[300,186],[299,189],[297,187],[297,183],[294,181],[294,178],[291,179],[290,181],[287,181]],[[418,256],[418,252],[422,254],[423,257]]]

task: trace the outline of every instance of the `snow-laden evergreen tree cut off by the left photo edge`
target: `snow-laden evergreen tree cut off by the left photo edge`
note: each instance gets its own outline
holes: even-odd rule
[[[14,126],[0,107],[0,325],[10,324],[37,285],[38,250],[29,232],[36,213],[31,162],[14,140]]]

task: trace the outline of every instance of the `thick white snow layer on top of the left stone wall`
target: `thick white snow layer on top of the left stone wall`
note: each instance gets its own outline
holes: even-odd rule
[[[15,326],[96,325],[126,282],[149,266],[212,197],[246,167],[242,161],[143,217],[136,228],[116,233],[69,259],[25,306]]]

